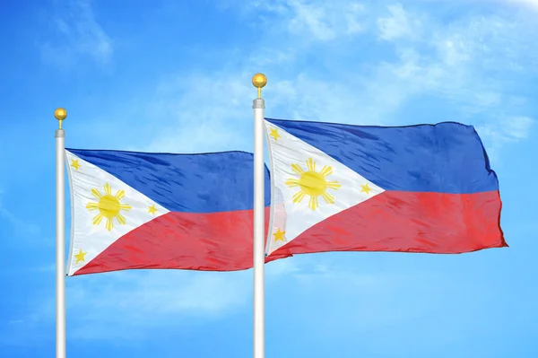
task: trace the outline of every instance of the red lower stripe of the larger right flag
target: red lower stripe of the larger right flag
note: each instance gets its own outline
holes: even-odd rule
[[[457,254],[507,247],[499,191],[439,194],[386,191],[304,231],[272,260],[326,251]]]

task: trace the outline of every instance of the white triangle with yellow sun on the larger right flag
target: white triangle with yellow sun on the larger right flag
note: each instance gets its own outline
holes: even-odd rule
[[[269,154],[273,166],[271,177],[274,190],[273,220],[270,228],[272,235],[268,240],[267,255],[294,240],[309,227],[385,191],[316,147],[266,120],[265,130],[269,138]],[[293,164],[299,165],[304,172],[307,172],[309,159],[316,162],[313,171],[317,173],[320,173],[324,166],[331,166],[332,172],[325,175],[324,179],[327,182],[335,181],[334,184],[339,187],[330,188],[327,186],[327,188],[323,188],[322,186],[320,188],[319,175],[317,178],[315,175],[314,179],[310,175],[310,180],[307,179],[308,175],[303,176],[303,180],[300,180],[301,174],[294,171],[291,166]],[[299,185],[291,187],[290,183],[286,184],[289,179],[296,180],[295,183]],[[334,204],[325,202],[323,196],[319,195],[317,196],[318,206],[314,210],[309,207],[311,196],[308,195],[308,191],[312,192],[316,189],[318,189],[318,193],[325,191],[325,193],[334,196]],[[300,202],[294,203],[293,196],[300,191],[305,192],[306,195]],[[279,235],[275,235],[275,233],[279,231],[285,231],[283,240],[277,240]]]

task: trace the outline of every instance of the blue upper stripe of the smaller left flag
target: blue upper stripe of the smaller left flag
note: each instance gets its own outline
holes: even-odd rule
[[[217,213],[252,210],[252,153],[135,153],[67,149],[124,181],[172,212]],[[265,167],[265,205],[271,184]]]

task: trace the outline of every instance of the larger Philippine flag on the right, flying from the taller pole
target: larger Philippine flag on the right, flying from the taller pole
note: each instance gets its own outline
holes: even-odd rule
[[[508,246],[498,179],[473,127],[266,118],[265,129],[273,189],[268,260]]]

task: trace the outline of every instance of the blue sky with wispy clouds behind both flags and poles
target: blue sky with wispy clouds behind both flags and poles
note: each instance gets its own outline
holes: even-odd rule
[[[536,1],[0,6],[0,356],[54,356],[54,109],[68,110],[70,147],[251,151],[256,72],[270,118],[475,126],[510,245],[274,262],[266,356],[538,356]],[[69,356],[251,356],[251,270],[139,270],[66,287]]]

